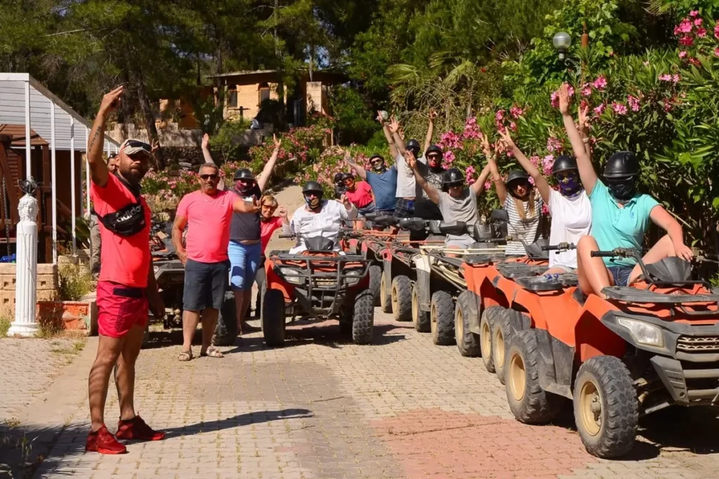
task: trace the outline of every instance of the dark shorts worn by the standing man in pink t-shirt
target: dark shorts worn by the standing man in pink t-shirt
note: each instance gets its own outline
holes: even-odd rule
[[[183,309],[202,311],[205,308],[221,309],[229,282],[229,260],[221,263],[200,263],[187,260]]]

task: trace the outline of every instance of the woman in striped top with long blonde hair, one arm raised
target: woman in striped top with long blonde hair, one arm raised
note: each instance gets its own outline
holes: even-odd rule
[[[500,204],[509,215],[507,232],[514,238],[513,241],[507,241],[505,254],[526,256],[524,245],[530,245],[539,239],[541,198],[529,182],[529,176],[523,171],[510,172],[505,182],[499,174],[495,152],[492,151],[487,136],[482,138],[482,144],[492,170],[492,179],[497,188]]]

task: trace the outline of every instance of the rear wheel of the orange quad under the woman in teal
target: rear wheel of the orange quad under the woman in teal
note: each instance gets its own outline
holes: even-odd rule
[[[544,424],[562,411],[563,398],[539,386],[536,330],[518,331],[507,350],[505,389],[514,417],[525,424]]]

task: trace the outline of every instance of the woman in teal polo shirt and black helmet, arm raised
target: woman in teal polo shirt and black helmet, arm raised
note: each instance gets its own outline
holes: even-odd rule
[[[634,248],[641,251],[644,233],[651,220],[667,231],[644,255],[651,264],[668,256],[692,259],[692,250],[684,244],[682,226],[649,195],[636,192],[639,164],[632,152],[612,154],[605,164],[603,180],[597,178],[590,157],[585,151],[582,136],[569,113],[567,85],[559,90],[559,110],[562,111],[567,136],[577,157],[582,184],[592,203],[590,236],[582,236],[577,244],[577,274],[585,294],[605,297],[602,289],[608,286],[627,286],[641,274],[633,258],[595,258],[592,251],[614,248]]]

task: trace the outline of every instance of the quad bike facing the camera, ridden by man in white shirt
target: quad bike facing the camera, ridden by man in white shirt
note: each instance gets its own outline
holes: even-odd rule
[[[352,233],[340,231],[339,236],[348,234]],[[368,289],[370,261],[334,251],[334,241],[322,236],[303,241],[306,251],[272,251],[265,261],[260,316],[265,343],[283,345],[287,318],[337,319],[340,330],[351,332],[355,344],[371,343],[375,298]]]

